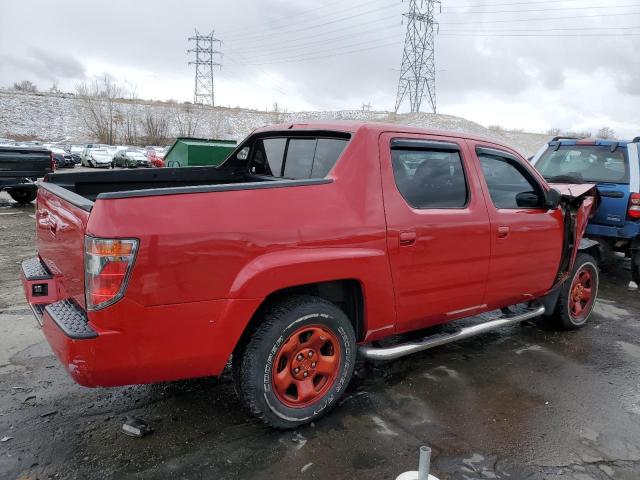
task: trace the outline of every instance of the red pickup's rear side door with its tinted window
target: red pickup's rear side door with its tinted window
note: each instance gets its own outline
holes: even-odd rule
[[[489,217],[465,142],[388,133],[379,148],[398,331],[482,310]]]

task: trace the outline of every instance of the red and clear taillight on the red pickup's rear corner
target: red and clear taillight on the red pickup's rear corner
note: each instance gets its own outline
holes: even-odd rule
[[[133,267],[135,239],[85,238],[84,270],[88,310],[98,310],[122,298]]]

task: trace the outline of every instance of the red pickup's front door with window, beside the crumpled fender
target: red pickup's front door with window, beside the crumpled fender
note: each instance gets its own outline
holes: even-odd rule
[[[558,273],[562,212],[544,208],[544,187],[526,161],[501,147],[469,145],[479,160],[491,219],[485,302],[497,308],[539,297]]]

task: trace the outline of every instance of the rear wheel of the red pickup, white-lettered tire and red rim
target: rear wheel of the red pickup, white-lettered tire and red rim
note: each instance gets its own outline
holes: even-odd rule
[[[317,357],[307,359],[303,352],[310,356],[315,352],[304,345],[312,346],[316,341],[326,343],[317,349]],[[289,347],[292,349],[290,355],[284,353],[289,342],[297,345],[295,348]],[[320,353],[325,347],[327,350]],[[314,358],[318,363],[311,363]],[[331,374],[333,378],[315,370],[320,363],[326,365],[323,359],[329,359],[331,364],[335,362]],[[250,335],[245,336],[244,343],[234,352],[236,393],[249,411],[268,425],[281,429],[296,428],[319,419],[336,405],[351,380],[355,360],[353,326],[342,310],[319,297],[290,297],[267,309],[261,323]],[[303,371],[299,372],[298,368],[294,374],[296,364],[301,365]],[[291,382],[285,391],[276,387],[274,369],[290,378],[285,380]],[[304,378],[293,378],[303,373]],[[318,378],[320,380],[316,386]],[[307,392],[312,394],[307,402],[302,401],[302,394],[297,389],[302,382],[314,388],[312,392]],[[292,388],[295,393],[290,391]],[[288,401],[298,403],[287,404]]]

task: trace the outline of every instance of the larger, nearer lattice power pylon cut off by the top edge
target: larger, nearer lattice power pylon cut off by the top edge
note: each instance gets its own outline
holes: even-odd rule
[[[404,38],[402,66],[396,96],[396,112],[407,95],[412,112],[419,112],[422,99],[427,96],[431,110],[436,113],[436,67],[434,28],[435,6],[440,0],[409,0],[407,33]]]

